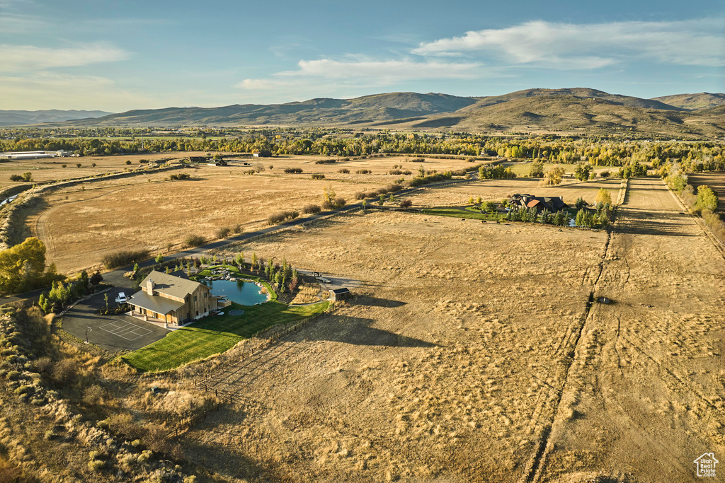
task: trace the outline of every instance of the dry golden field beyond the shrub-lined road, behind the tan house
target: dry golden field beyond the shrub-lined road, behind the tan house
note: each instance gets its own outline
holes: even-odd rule
[[[394,165],[413,173],[423,165],[444,171],[471,167],[457,159],[428,159],[424,163],[401,157],[384,157],[315,164],[319,156],[285,156],[235,161],[232,166],[203,164],[186,169],[191,180],[168,181],[168,172],[139,175],[72,186],[46,196],[46,206],[28,218],[28,234],[38,236],[47,247],[49,262],[60,272],[72,273],[97,266],[104,253],[131,248],[166,251],[171,243],[180,249],[187,235],[215,238],[220,227],[241,225],[244,231],[265,226],[270,214],[300,210],[322,202],[324,188],[355,201],[355,193],[390,185],[401,177],[387,174]],[[257,165],[264,170],[247,175]],[[273,165],[273,169],[269,169]],[[302,174],[286,174],[288,167],[302,168]],[[349,174],[339,169],[349,169]],[[370,175],[357,174],[370,169]],[[312,180],[324,174],[324,180]]]

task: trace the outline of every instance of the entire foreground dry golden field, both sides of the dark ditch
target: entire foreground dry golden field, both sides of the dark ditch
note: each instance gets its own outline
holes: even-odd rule
[[[187,457],[229,481],[698,481],[725,454],[725,262],[660,180],[629,185],[611,235],[376,212],[242,245],[363,286],[182,369],[241,401]]]

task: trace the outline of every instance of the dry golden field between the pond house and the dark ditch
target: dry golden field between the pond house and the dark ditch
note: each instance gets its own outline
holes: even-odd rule
[[[187,434],[188,458],[251,481],[518,481],[607,235],[423,219],[350,214],[239,248],[362,294],[249,364],[222,356],[244,405]]]

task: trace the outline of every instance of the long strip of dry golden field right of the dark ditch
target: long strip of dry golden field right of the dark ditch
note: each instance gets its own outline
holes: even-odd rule
[[[725,263],[663,182],[630,180],[537,481],[694,482],[725,455]],[[607,480],[610,481],[610,480]]]

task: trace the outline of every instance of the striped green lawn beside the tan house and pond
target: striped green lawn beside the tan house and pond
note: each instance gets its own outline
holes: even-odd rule
[[[328,307],[328,302],[310,306],[288,306],[269,301],[256,306],[232,303],[223,316],[208,316],[194,324],[170,332],[162,340],[128,353],[121,358],[141,371],[166,371],[183,364],[213,356],[231,349],[240,340],[248,339],[263,329],[305,319]],[[229,311],[241,308],[244,314],[231,316]]]

